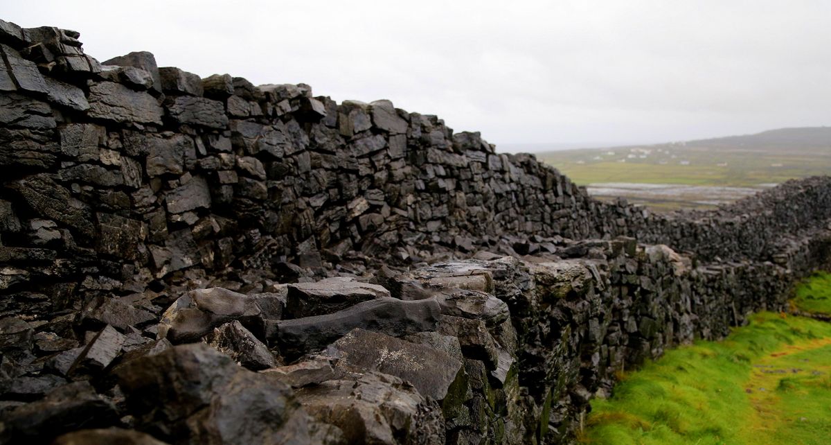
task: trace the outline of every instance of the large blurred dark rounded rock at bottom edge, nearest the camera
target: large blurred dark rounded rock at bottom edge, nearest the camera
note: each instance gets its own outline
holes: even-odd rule
[[[205,344],[136,358],[118,378],[137,427],[165,432],[176,443],[312,445],[341,438],[299,408],[288,385],[240,368]]]

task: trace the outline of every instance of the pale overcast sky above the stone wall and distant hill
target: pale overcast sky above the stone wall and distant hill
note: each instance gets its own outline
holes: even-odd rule
[[[100,61],[390,99],[504,148],[831,125],[829,0],[2,1]]]

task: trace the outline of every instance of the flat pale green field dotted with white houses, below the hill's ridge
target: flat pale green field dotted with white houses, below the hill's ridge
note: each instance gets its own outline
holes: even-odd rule
[[[637,147],[553,151],[539,154],[538,159],[558,168],[578,185],[632,182],[753,186],[831,173],[831,151],[787,156],[686,147],[661,152],[652,149],[649,154],[632,150]]]

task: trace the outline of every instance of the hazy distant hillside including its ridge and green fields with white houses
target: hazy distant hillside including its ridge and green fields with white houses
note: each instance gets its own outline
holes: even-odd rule
[[[782,128],[754,135],[664,144],[549,151],[537,156],[579,185],[757,187],[791,178],[831,175],[831,126]]]

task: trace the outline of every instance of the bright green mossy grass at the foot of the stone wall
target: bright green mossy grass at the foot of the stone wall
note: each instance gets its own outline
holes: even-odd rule
[[[831,275],[801,284],[795,304],[829,309],[819,295],[831,295]],[[581,443],[829,443],[831,324],[755,314],[724,341],[671,350],[628,373],[592,408]]]

